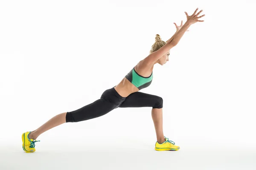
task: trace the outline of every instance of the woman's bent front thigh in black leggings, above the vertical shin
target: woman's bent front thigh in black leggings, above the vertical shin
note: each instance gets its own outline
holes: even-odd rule
[[[160,96],[142,93],[137,91],[126,97],[119,108],[163,108],[163,99]]]

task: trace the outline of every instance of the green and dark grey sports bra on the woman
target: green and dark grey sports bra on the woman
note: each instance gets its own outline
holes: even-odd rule
[[[139,90],[148,87],[153,79],[153,71],[149,77],[143,77],[135,71],[135,67],[125,76]]]

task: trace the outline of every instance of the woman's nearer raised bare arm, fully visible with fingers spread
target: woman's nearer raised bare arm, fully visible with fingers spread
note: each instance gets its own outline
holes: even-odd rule
[[[201,17],[204,17],[204,15],[201,15],[200,17],[198,17],[198,15],[203,11],[199,11],[198,14],[196,14],[196,12],[198,11],[198,8],[195,10],[194,14],[192,14],[191,16],[189,16],[186,12],[186,17],[187,17],[187,21],[186,23],[184,23],[184,26],[180,28],[179,31],[177,31],[166,43],[166,45],[164,45],[163,47],[161,47],[159,50],[151,53],[148,55],[148,57],[145,58],[145,61],[148,64],[154,64],[154,62],[156,62],[158,59],[160,59],[164,54],[166,54],[171,48],[173,48],[175,45],[177,45],[177,43],[180,41],[181,37],[184,35],[184,33],[186,32],[186,30],[189,28],[189,26],[191,26],[194,23],[197,22],[204,22],[203,20],[198,20]]]

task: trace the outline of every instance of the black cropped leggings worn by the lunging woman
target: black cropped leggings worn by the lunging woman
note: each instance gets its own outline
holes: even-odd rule
[[[135,92],[127,97],[120,96],[114,88],[103,92],[100,99],[76,111],[67,112],[66,122],[80,122],[103,116],[116,108],[163,108],[163,99],[159,96]]]

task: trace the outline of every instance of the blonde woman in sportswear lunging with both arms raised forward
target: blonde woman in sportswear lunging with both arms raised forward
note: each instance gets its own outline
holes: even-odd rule
[[[66,122],[80,122],[103,116],[115,108],[129,107],[152,107],[151,116],[157,135],[155,150],[179,150],[180,147],[163,135],[163,99],[139,91],[151,84],[154,65],[157,63],[164,65],[169,61],[170,49],[177,45],[189,26],[203,22],[203,20],[198,20],[204,17],[204,15],[198,17],[203,10],[196,14],[197,11],[198,8],[191,16],[185,12],[187,21],[184,25],[181,23],[181,26],[177,26],[174,23],[177,32],[167,42],[162,41],[157,34],[156,42],[152,45],[148,57],[141,60],[118,85],[104,91],[100,99],[76,111],[58,114],[38,129],[23,133],[23,150],[26,153],[35,152],[35,142],[38,142],[36,140],[38,136],[53,127]]]

